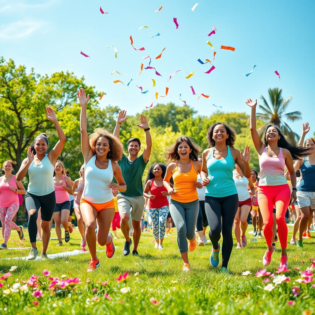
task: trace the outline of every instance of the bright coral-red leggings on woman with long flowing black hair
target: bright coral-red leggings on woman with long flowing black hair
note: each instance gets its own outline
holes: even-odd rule
[[[276,206],[276,221],[281,248],[287,247],[288,227],[285,213],[288,209],[291,192],[288,184],[278,186],[259,186],[258,204],[264,221],[264,236],[268,246],[272,245],[273,205]]]

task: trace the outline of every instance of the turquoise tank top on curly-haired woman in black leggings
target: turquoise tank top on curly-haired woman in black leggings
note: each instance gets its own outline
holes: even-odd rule
[[[233,180],[235,161],[230,147],[227,147],[226,158],[217,160],[213,156],[215,147],[211,149],[207,159],[209,185],[206,186],[206,196],[226,197],[237,194]]]

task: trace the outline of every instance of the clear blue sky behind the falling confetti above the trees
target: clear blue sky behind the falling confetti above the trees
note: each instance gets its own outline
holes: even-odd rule
[[[117,105],[129,114],[140,112],[153,101],[182,105],[180,93],[182,100],[201,115],[216,111],[212,104],[222,106],[225,112],[249,113],[247,98],[267,97],[268,88],[278,87],[285,98],[293,97],[289,111],[302,113],[301,121],[290,123],[300,134],[302,122],[314,117],[314,2],[199,0],[192,12],[195,3],[0,0],[0,55],[29,70],[34,67],[40,74],[68,70],[84,76],[88,85],[106,93],[101,107]],[[162,4],[162,10],[154,12]],[[100,6],[109,14],[101,14]],[[143,25],[149,29],[139,30]],[[208,37],[213,25],[217,31]],[[161,36],[149,38],[158,32]],[[130,35],[134,47],[145,47],[144,51],[131,47]],[[117,48],[117,59],[113,49],[107,49],[109,45]],[[235,47],[235,51],[220,49],[221,45]],[[162,58],[156,60],[164,47]],[[83,57],[81,50],[90,59]],[[201,65],[197,60],[212,60],[214,51],[215,70],[205,74],[211,65]],[[148,66],[148,59],[142,59],[147,55],[162,77],[154,70],[137,75],[141,63]],[[254,65],[254,72],[246,77]],[[123,75],[111,75],[115,70]],[[180,72],[166,82],[177,70]],[[191,71],[195,74],[186,79]],[[151,79],[156,81],[154,88]],[[123,81],[125,86],[114,84],[114,80]],[[135,85],[149,92],[141,94]],[[192,95],[191,85],[196,95]],[[165,95],[166,87],[168,95],[156,100],[155,92]],[[201,93],[210,97],[197,100]],[[313,121],[310,135],[315,131]]]

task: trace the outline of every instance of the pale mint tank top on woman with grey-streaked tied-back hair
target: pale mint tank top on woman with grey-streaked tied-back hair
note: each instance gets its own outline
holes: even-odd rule
[[[45,154],[44,158],[37,165],[32,161],[27,172],[30,177],[27,191],[31,194],[44,196],[55,190],[53,180],[54,165],[50,163],[48,154]]]

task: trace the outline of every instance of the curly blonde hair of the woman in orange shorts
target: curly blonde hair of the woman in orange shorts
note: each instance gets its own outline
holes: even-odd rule
[[[93,134],[89,135],[90,147],[94,153],[96,153],[95,144],[99,137],[104,137],[109,142],[110,151],[107,153],[107,158],[113,162],[120,161],[123,156],[123,145],[117,137],[105,128],[96,128]]]

